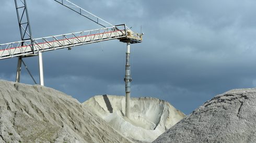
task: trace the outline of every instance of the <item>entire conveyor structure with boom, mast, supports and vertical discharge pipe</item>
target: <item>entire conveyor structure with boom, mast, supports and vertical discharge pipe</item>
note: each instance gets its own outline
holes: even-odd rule
[[[78,45],[85,45],[85,44],[114,40],[114,39],[118,39],[120,42],[127,43],[124,81],[125,81],[125,93],[126,93],[125,116],[129,118],[129,108],[130,108],[129,103],[130,103],[130,92],[131,92],[131,81],[132,81],[131,71],[130,71],[130,45],[134,43],[141,43],[143,34],[134,33],[131,29],[127,28],[125,24],[113,25],[91,14],[85,9],[75,5],[74,3],[69,2],[68,0],[53,0],[53,1],[101,25],[103,28],[62,34],[62,35],[55,35],[55,36],[33,38],[31,28],[30,28],[30,23],[29,23],[29,15],[27,10],[26,0],[15,0],[21,41],[0,44],[0,60],[18,57],[16,82],[20,82],[21,63],[23,63],[25,68],[28,70],[22,58],[38,56],[40,85],[44,85],[43,58],[42,58],[43,52],[49,51],[49,50],[62,49],[62,48],[71,49],[71,47],[75,47]],[[28,73],[32,77],[34,83],[37,84],[29,70],[28,70]]]

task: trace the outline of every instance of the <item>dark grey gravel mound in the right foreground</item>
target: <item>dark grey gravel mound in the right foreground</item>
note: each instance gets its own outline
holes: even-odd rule
[[[215,96],[154,142],[255,142],[256,88]]]

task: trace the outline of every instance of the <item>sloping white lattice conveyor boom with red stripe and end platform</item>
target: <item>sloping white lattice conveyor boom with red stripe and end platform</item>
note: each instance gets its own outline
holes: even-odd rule
[[[30,40],[0,44],[0,60],[113,39],[119,39],[121,42],[126,40],[133,41],[133,43],[142,42],[141,37],[122,24],[109,28],[36,38],[33,39],[33,44]]]

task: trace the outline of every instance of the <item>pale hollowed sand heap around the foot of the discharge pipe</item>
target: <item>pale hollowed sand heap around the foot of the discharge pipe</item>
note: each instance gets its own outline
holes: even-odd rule
[[[150,97],[131,98],[130,119],[125,118],[124,96],[95,96],[83,105],[136,142],[152,142],[185,116],[168,102]]]

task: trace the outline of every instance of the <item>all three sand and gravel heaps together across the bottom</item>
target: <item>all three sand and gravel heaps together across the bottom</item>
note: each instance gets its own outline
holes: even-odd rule
[[[156,98],[84,103],[52,88],[0,80],[0,142],[255,142],[256,88],[217,95],[185,116]]]

